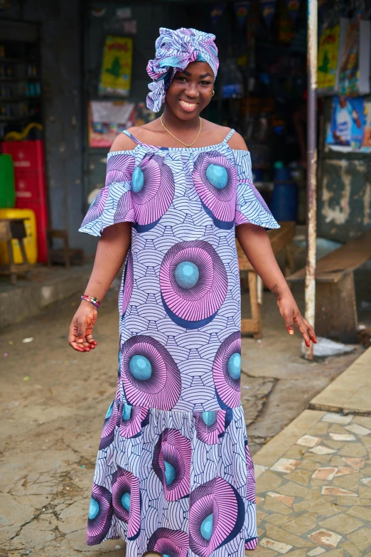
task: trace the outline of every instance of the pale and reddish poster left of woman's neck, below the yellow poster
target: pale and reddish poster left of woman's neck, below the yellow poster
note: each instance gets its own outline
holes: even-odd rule
[[[114,138],[134,125],[135,105],[126,100],[93,100],[89,105],[89,147],[111,147]]]

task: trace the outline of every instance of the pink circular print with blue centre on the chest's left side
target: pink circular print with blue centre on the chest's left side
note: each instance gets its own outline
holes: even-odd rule
[[[158,223],[174,196],[174,176],[160,155],[146,154],[131,177],[136,230],[145,232]]]

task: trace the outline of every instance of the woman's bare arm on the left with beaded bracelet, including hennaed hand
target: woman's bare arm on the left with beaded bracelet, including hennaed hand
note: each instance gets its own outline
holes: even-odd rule
[[[112,285],[119,268],[124,262],[131,243],[131,223],[117,223],[102,232],[98,242],[92,275],[84,294],[102,302]],[[95,349],[97,342],[92,337],[92,328],[97,321],[97,309],[82,300],[70,324],[68,343],[78,352]]]

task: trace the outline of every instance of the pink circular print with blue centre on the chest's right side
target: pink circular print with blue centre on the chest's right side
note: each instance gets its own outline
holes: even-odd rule
[[[237,186],[235,167],[219,152],[205,152],[196,159],[192,176],[203,207],[215,226],[232,228]]]

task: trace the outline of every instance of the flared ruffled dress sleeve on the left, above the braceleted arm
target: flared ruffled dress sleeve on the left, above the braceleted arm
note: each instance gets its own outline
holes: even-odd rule
[[[80,232],[100,236],[104,228],[112,224],[135,223],[131,199],[131,176],[134,167],[135,159],[131,154],[108,154],[106,185],[87,211]]]

